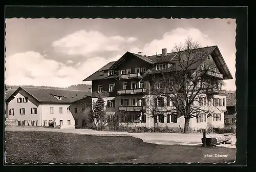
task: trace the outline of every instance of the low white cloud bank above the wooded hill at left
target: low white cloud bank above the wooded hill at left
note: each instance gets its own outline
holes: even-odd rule
[[[68,87],[72,84],[84,83],[82,82],[84,78],[115,58],[93,57],[73,67],[46,59],[38,52],[17,53],[6,58],[6,83],[8,85]]]

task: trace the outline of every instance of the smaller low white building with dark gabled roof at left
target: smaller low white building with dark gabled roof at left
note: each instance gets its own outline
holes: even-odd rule
[[[60,128],[82,127],[92,101],[86,91],[28,87],[19,87],[6,99],[7,120],[30,126],[49,126],[55,121]]]

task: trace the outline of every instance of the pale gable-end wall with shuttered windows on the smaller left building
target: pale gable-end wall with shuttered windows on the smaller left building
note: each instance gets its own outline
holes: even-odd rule
[[[18,103],[17,98],[25,98],[28,97],[28,102]],[[38,125],[40,126],[40,105],[37,100],[27,94],[25,91],[20,90],[19,93],[8,103],[8,119],[10,120],[17,120],[17,121],[24,121],[25,125]],[[19,114],[19,109],[25,109],[25,114]],[[37,114],[31,114],[31,108],[37,108]],[[14,109],[14,115],[9,115],[9,110]]]

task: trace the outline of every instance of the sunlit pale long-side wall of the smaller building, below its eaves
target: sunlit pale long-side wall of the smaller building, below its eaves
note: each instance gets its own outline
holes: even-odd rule
[[[42,104],[40,107],[42,117],[41,126],[44,126],[44,121],[48,126],[49,120],[53,121],[56,118],[56,125],[60,125],[60,120],[62,120],[61,128],[75,128],[75,120],[71,112],[68,112],[68,107],[71,104]],[[53,107],[53,113],[50,113],[50,107]],[[59,112],[59,107],[62,107],[62,114]],[[68,125],[68,120],[71,121],[71,125]]]

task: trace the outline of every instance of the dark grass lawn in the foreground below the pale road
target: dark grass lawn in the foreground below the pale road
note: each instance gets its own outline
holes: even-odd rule
[[[7,163],[233,162],[236,149],[144,143],[134,137],[6,132]],[[205,158],[205,155],[227,155]]]

